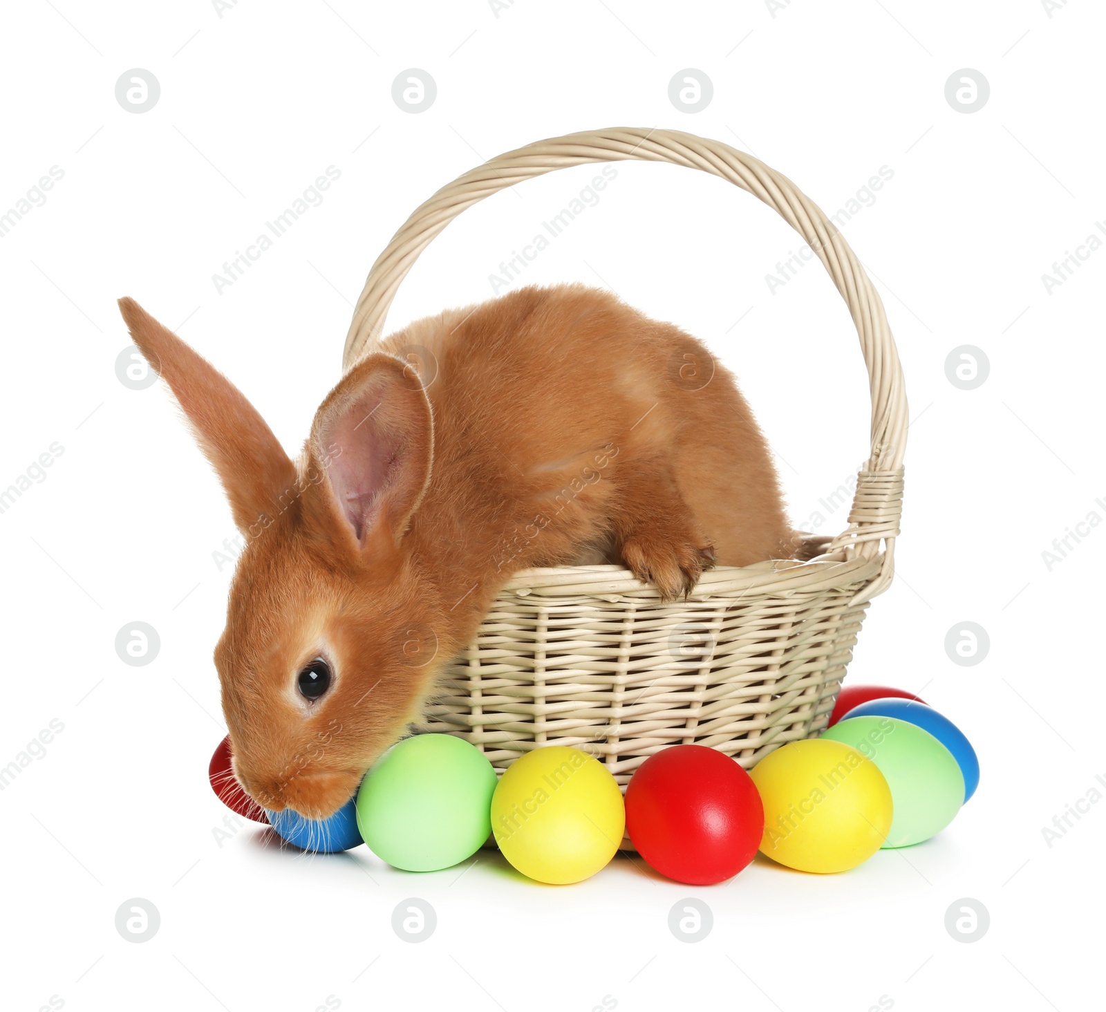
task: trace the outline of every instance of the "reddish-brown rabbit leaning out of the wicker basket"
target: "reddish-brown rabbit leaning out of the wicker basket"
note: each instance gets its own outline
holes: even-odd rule
[[[804,552],[732,376],[606,292],[413,323],[342,377],[295,462],[205,359],[119,309],[246,536],[215,661],[267,808],[341,807],[518,570],[623,562],[671,598],[716,562]]]

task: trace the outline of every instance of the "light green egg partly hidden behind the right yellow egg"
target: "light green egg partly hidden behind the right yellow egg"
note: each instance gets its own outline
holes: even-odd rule
[[[890,717],[846,718],[822,734],[852,745],[878,768],[895,812],[887,847],[909,847],[940,833],[964,800],[964,778],[952,753],[928,731]]]

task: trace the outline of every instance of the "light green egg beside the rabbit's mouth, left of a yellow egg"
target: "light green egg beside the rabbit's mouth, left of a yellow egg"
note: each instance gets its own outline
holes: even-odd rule
[[[357,792],[357,828],[382,860],[437,872],[474,854],[491,834],[495,771],[452,734],[417,734],[385,752]]]

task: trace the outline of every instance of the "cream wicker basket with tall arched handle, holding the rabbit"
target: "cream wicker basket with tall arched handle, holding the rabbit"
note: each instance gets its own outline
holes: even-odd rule
[[[661,603],[653,587],[609,565],[525,570],[505,585],[473,641],[446,667],[417,730],[458,734],[500,769],[545,744],[574,745],[623,785],[666,745],[710,745],[748,769],[825,728],[868,602],[891,580],[907,431],[902,373],[883,303],[834,226],[757,158],[674,131],[540,140],[442,187],[373,264],[345,366],[371,351],[418,254],[467,207],[553,169],[624,159],[721,176],[775,208],[810,243],[860,337],[872,456],[847,530],[813,561],[720,566],[678,603]]]

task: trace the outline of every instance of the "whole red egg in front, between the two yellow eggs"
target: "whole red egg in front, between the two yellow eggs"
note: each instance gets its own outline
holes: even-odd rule
[[[753,859],[764,807],[752,779],[729,755],[705,745],[670,745],[630,779],[626,831],[661,875],[709,886]]]

